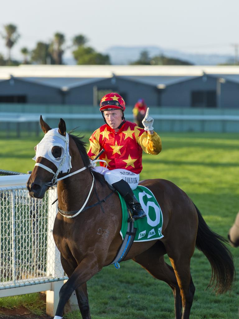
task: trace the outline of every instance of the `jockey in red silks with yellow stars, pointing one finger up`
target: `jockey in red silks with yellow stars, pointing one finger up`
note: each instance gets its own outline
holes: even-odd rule
[[[106,94],[100,101],[100,111],[105,124],[94,131],[90,137],[88,156],[94,159],[104,148],[99,159],[101,167],[94,170],[104,174],[105,180],[112,185],[132,210],[132,218],[145,217],[141,204],[137,201],[132,189],[139,183],[142,170],[142,151],[158,154],[161,149],[161,139],[154,132],[152,117],[148,110],[143,119],[144,129],[135,123],[126,121],[124,117],[125,101],[118,93]]]

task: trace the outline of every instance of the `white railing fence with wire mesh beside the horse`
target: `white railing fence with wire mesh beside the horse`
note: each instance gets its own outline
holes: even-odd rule
[[[0,176],[0,297],[47,291],[47,314],[53,316],[68,279],[52,235],[57,192],[29,197],[29,176]]]

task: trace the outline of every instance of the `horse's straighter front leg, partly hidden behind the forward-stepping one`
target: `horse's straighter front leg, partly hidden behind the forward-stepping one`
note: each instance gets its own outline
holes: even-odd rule
[[[72,273],[77,267],[76,260],[72,256],[73,259],[65,259],[61,254],[61,263],[62,267],[67,274],[68,278],[71,277]],[[91,319],[90,314],[90,306],[88,300],[88,292],[87,285],[84,283],[82,286],[76,289],[76,298],[78,301],[79,309],[83,319]]]

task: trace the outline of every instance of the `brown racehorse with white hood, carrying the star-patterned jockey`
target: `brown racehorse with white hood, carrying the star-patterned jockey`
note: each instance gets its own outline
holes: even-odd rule
[[[43,132],[51,130],[42,118],[40,124]],[[67,135],[62,119],[58,132],[62,137]],[[58,145],[51,148],[54,158],[61,158],[61,152]],[[69,135],[69,154],[72,163],[70,172],[80,172],[68,175],[58,182],[59,209],[73,215],[84,204],[86,206],[75,218],[66,218],[60,212],[55,218],[54,241],[61,253],[63,269],[69,276],[60,290],[55,318],[62,317],[64,306],[75,290],[82,317],[89,319],[91,315],[86,282],[109,265],[117,254],[122,243],[121,206],[119,197],[108,188],[102,175],[92,172],[80,137]],[[53,176],[53,173],[43,167],[56,172],[56,166],[43,157],[37,158],[36,165],[38,166],[34,167],[27,188],[32,197],[42,198],[52,184],[50,181]],[[66,174],[60,175],[64,177]],[[211,263],[210,283],[217,293],[225,293],[232,286],[235,275],[232,255],[223,243],[226,240],[210,230],[183,190],[162,179],[145,180],[141,185],[151,189],[161,205],[164,237],[160,240],[133,243],[126,260],[133,259],[152,276],[165,281],[173,291],[175,318],[187,319],[195,292],[190,273],[190,260],[195,246]],[[107,230],[108,236],[99,236],[98,228]],[[165,263],[165,254],[169,256],[172,267]]]

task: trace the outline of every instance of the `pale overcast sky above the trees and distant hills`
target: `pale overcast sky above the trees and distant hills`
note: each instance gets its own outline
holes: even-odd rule
[[[1,1],[0,30],[18,26],[21,37],[12,49],[33,49],[64,33],[67,44],[84,34],[100,52],[111,46],[159,46],[193,53],[234,54],[239,43],[238,0],[13,0]],[[6,55],[0,37],[0,53]],[[70,56],[70,51],[66,51]]]

